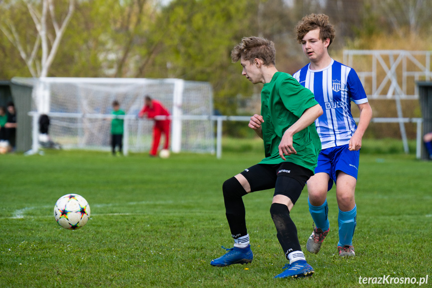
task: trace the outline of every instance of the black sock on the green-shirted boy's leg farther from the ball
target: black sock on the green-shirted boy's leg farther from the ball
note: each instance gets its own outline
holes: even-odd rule
[[[288,207],[285,204],[271,204],[270,214],[276,226],[277,239],[288,259],[288,254],[292,251],[301,251],[297,237],[297,227],[291,220]]]

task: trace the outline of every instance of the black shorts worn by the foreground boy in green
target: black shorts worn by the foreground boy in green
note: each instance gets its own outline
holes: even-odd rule
[[[251,192],[275,188],[274,195],[288,196],[295,203],[313,172],[291,162],[282,162],[256,164],[240,174],[249,182]]]

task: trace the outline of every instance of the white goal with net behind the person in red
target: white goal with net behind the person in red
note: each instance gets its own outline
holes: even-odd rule
[[[24,83],[29,79],[14,78],[14,81]],[[49,136],[66,149],[108,151],[112,102],[117,100],[120,109],[126,113],[125,153],[149,151],[154,121],[137,117],[144,106],[144,97],[149,95],[170,111],[173,152],[215,151],[209,83],[131,78],[41,78],[32,81],[32,115],[49,115]],[[35,123],[34,120],[33,130],[38,128]],[[33,132],[35,138],[37,134]],[[164,139],[161,139],[160,144],[163,143]]]

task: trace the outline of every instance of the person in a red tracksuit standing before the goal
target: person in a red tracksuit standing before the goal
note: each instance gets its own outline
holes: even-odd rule
[[[143,118],[144,114],[147,113],[147,118],[154,119],[155,116],[170,116],[168,109],[165,108],[159,101],[153,100],[150,96],[146,95],[144,98],[144,107],[141,109],[138,117]],[[161,140],[161,134],[165,134],[165,145],[164,149],[168,149],[170,140],[170,123],[171,120],[155,120],[155,126],[153,127],[153,143],[152,149],[150,150],[151,156],[156,156],[158,153],[158,146]]]

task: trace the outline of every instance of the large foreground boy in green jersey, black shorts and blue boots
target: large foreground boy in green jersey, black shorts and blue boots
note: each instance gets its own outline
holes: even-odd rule
[[[289,213],[316,167],[321,142],[314,121],[323,112],[310,90],[276,70],[275,53],[273,42],[259,37],[243,38],[231,53],[234,63],[240,60],[242,75],[253,84],[264,84],[261,115],[253,115],[248,126],[263,139],[265,158],[223,183],[226,217],[235,243],[210,264],[252,261],[242,196],[274,188],[270,214],[289,260],[275,278],[311,276],[314,270],[301,251]]]

